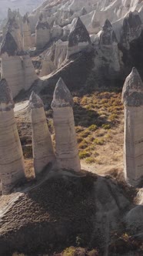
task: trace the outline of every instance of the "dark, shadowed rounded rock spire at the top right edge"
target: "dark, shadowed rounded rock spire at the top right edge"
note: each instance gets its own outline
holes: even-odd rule
[[[141,19],[138,12],[129,12],[125,17],[121,29],[121,43],[130,49],[130,42],[141,35]]]

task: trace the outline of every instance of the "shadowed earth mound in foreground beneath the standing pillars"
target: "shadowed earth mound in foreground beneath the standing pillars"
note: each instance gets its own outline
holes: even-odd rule
[[[6,207],[1,198],[1,255],[53,255],[77,242],[101,255],[114,253],[113,234],[125,232],[134,194],[109,177],[52,171],[39,184],[12,194]]]

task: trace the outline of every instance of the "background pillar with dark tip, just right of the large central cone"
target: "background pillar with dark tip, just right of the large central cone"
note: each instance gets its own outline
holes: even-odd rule
[[[108,69],[118,72],[120,70],[118,42],[108,19],[106,19],[105,25],[101,30],[99,49],[101,50],[101,55],[105,58],[106,65],[108,62]],[[103,65],[103,61],[101,61],[101,65]]]

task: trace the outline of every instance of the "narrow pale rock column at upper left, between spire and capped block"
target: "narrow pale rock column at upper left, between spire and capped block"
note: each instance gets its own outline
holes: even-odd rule
[[[28,14],[25,14],[22,20],[22,30],[23,30],[23,48],[32,48],[32,34],[30,29],[30,23],[28,20]]]

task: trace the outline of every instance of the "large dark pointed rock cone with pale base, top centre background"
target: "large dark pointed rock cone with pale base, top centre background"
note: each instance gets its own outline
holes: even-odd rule
[[[75,19],[68,39],[68,57],[76,52],[81,52],[91,43],[88,31],[81,19]]]

